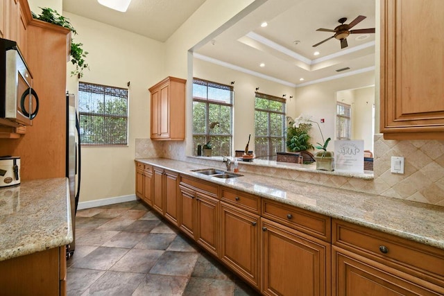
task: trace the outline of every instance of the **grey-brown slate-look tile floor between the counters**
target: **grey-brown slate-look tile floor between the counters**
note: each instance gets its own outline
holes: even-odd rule
[[[69,296],[259,295],[139,201],[78,211],[67,266]]]

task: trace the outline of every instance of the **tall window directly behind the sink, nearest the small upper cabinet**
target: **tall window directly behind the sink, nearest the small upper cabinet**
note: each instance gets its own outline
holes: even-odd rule
[[[193,151],[208,141],[212,155],[232,155],[233,87],[193,79]]]

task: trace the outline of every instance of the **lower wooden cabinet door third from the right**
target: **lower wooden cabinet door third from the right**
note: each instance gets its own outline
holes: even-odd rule
[[[259,288],[259,216],[221,202],[221,259]]]

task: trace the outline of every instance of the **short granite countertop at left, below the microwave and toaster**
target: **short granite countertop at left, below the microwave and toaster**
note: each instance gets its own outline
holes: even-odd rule
[[[0,189],[0,261],[73,240],[67,178]]]

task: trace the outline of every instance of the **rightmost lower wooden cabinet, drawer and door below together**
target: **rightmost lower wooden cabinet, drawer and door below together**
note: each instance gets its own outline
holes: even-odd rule
[[[332,223],[333,295],[444,295],[444,250]]]

